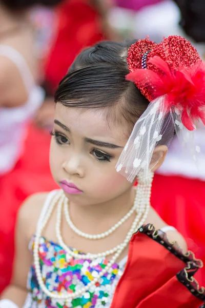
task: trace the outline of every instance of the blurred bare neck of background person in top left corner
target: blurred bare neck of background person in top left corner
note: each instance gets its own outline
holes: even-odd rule
[[[22,29],[27,18],[25,11],[14,13],[0,4],[0,40],[6,38],[7,33],[11,35],[18,29]]]

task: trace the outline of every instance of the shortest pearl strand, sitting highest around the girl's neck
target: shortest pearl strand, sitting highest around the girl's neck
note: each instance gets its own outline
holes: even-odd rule
[[[66,202],[66,199],[65,199],[65,202],[64,202],[64,213],[65,213],[65,218],[66,218],[66,221],[69,225],[69,227],[79,236],[81,237],[84,237],[86,239],[89,239],[89,240],[99,240],[99,239],[103,239],[107,236],[109,236],[110,234],[112,234],[118,227],[120,227],[128,218],[130,218],[132,216],[132,214],[134,213],[134,211],[137,210],[137,200],[135,199],[135,202],[134,202],[134,205],[132,206],[132,208],[129,210],[129,212],[124,216],[122,217],[113,227],[111,227],[108,231],[106,232],[103,232],[101,234],[87,234],[87,233],[84,233],[82,231],[80,231],[74,224],[73,222],[71,221],[71,218],[70,218],[70,214],[69,214],[69,205],[68,203]],[[117,246],[118,247],[118,246]],[[117,248],[118,249],[118,248]]]

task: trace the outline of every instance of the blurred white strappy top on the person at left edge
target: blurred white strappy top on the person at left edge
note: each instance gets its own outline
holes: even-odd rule
[[[0,107],[0,176],[10,171],[17,162],[26,137],[26,124],[44,101],[44,90],[35,84],[24,57],[14,48],[0,45],[0,56],[6,56],[18,68],[28,100],[13,108]]]

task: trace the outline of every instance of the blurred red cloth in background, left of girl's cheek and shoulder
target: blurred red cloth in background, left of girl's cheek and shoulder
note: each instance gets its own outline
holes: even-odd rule
[[[49,167],[49,133],[29,127],[24,155],[0,177],[0,293],[9,283],[14,252],[14,225],[22,202],[37,191],[55,189]]]

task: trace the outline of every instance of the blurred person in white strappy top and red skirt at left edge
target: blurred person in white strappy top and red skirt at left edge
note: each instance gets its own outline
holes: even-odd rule
[[[39,86],[40,69],[35,53],[35,29],[29,18],[30,8],[37,4],[53,6],[59,2],[0,0],[0,289],[6,281],[4,273],[9,272],[9,267],[2,267],[4,258],[1,251],[4,244],[9,244],[6,214],[13,207],[10,195],[15,176],[12,174],[24,151],[28,122],[45,97]],[[6,179],[10,180],[7,182]],[[12,211],[10,215],[13,216]]]

